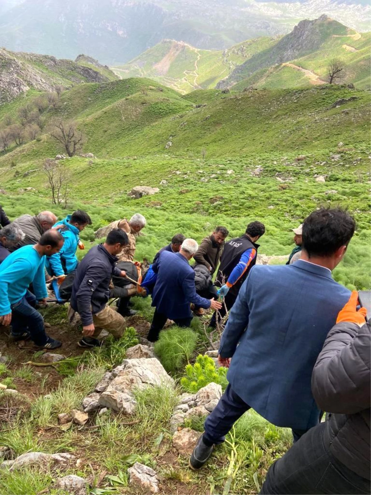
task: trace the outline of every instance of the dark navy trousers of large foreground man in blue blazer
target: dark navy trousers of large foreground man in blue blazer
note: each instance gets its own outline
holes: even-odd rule
[[[228,384],[224,394],[211,414],[206,418],[203,440],[206,445],[218,445],[224,442],[227,433],[243,413],[251,409]],[[299,440],[308,430],[292,430],[294,442]],[[301,494],[297,494],[301,495]]]

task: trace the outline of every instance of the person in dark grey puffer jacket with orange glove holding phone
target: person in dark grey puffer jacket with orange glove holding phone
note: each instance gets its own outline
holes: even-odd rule
[[[329,421],[270,468],[260,495],[371,494],[371,324],[357,304],[353,292],[313,371],[313,395]]]

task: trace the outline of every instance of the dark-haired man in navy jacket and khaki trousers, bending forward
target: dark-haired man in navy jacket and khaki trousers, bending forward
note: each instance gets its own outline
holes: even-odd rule
[[[115,267],[115,263],[117,254],[128,242],[128,235],[123,230],[113,229],[106,241],[92,247],[77,267],[68,316],[71,321],[75,312],[80,314],[84,336],[78,343],[80,347],[100,346],[101,342],[96,337],[103,328],[117,339],[124,333],[125,319],[107,302],[112,275],[126,275],[125,271]]]

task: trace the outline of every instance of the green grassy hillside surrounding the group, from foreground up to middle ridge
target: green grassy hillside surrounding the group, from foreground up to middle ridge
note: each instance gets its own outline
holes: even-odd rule
[[[274,77],[284,81],[293,74],[300,71],[277,66],[266,80],[271,76],[273,85]],[[22,109],[28,106],[34,114],[36,101],[45,98],[31,89],[1,105],[0,143],[8,121],[22,127]],[[333,276],[350,289],[371,288],[369,92],[318,85],[227,93],[200,89],[181,95],[156,81],[129,78],[76,85],[61,93],[55,107],[37,112],[42,128],[36,139],[19,146],[12,142],[0,152],[0,202],[11,219],[43,209],[58,218],[77,208],[86,210],[93,224],[81,233],[85,250],[79,250],[79,259],[99,242],[95,230],[135,212],[147,220],[137,240],[138,261],[152,259],[177,232],[199,242],[214,226],[226,225],[234,237],[252,220],[266,226],[260,253],[286,259],[293,247],[291,229],[316,208],[340,205],[356,217],[357,231]],[[46,158],[62,151],[49,136],[59,119],[75,120],[87,136],[83,151],[95,155],[55,162],[67,181],[65,209],[51,203],[43,172]],[[140,185],[159,192],[130,198],[131,189]],[[67,305],[50,304],[43,310],[47,332],[63,341],[61,352],[67,356],[52,367],[27,364],[39,362],[40,352],[30,342],[17,347],[9,343],[7,329],[0,332],[0,349],[9,357],[1,363],[1,383],[19,391],[12,402],[0,392],[0,445],[10,447],[6,455],[71,452],[76,460],[66,473],[88,479],[94,494],[133,493],[127,468],[138,460],[158,473],[164,495],[205,495],[205,490],[257,495],[269,466],[292,443],[287,429],[249,411],[216,449],[206,484],[205,471],[190,471],[187,456],[178,456],[173,447],[170,418],[185,392],[180,379],[186,362],[193,364],[210,345],[204,329],[209,314],[195,318],[192,330],[176,334],[183,338],[190,332],[194,341],[183,361],[183,344],[166,353],[167,362],[177,353],[175,392],[158,387],[139,391],[130,418],[93,411],[85,426],[59,424],[58,414],[80,409],[103,374],[122,363],[127,347],[147,335],[151,300],[133,297],[133,302],[138,314],[127,319],[124,337],[108,338],[103,347],[84,353],[76,344],[81,328],[66,323]],[[177,329],[167,329],[165,335],[169,332]],[[188,418],[184,426],[201,432],[203,418]],[[46,493],[59,473],[65,474],[63,467],[58,473],[39,471],[38,466],[11,472],[0,467],[0,492]]]

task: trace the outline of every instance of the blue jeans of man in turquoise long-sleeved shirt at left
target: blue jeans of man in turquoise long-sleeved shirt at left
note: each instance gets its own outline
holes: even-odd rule
[[[19,335],[28,330],[35,344],[44,346],[47,341],[44,319],[35,309],[35,305],[36,297],[30,291],[27,291],[20,301],[10,305],[12,333]]]

